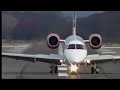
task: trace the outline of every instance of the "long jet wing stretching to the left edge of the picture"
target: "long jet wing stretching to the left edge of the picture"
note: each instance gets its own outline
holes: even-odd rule
[[[51,63],[54,62],[56,64],[60,63],[60,60],[64,60],[64,56],[59,55],[59,54],[50,54],[50,55],[45,55],[45,54],[15,54],[15,53],[2,53],[2,57],[8,57],[8,58],[13,58],[16,60],[24,60],[24,61],[30,61],[30,62],[35,62],[35,61],[40,61],[40,62],[45,62],[45,63]]]

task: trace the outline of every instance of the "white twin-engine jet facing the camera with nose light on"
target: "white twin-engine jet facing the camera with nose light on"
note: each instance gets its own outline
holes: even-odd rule
[[[99,73],[98,63],[115,62],[120,60],[120,56],[113,55],[88,55],[86,43],[89,43],[92,49],[100,49],[102,46],[102,37],[99,34],[92,34],[88,40],[84,40],[76,35],[76,12],[73,12],[73,30],[72,35],[66,39],[61,39],[56,33],[51,33],[47,36],[47,45],[51,49],[59,48],[63,45],[63,52],[58,54],[16,54],[16,53],[2,53],[2,57],[13,58],[16,60],[26,60],[30,62],[44,62],[50,64],[50,73],[58,72],[58,65],[63,63],[70,66],[70,73],[78,72],[81,64],[90,65],[91,73]]]

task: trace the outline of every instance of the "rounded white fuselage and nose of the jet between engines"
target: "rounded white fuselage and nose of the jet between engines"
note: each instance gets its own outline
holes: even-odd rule
[[[65,45],[64,55],[70,63],[82,63],[85,60],[87,49],[84,40],[81,37],[70,36],[66,39]]]

